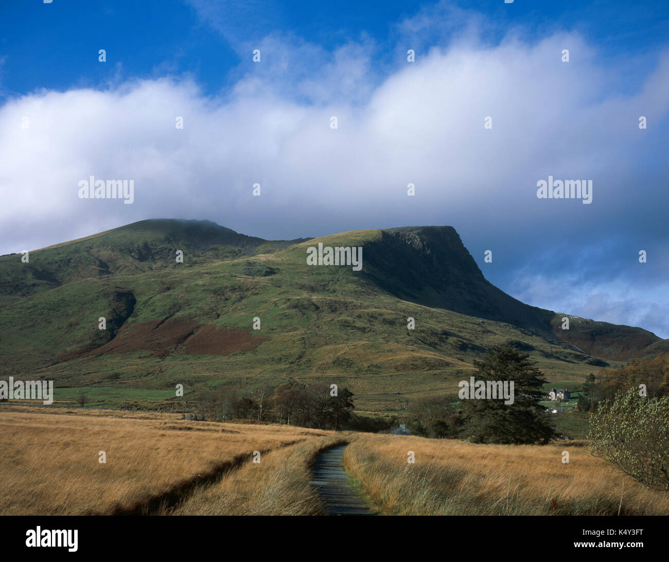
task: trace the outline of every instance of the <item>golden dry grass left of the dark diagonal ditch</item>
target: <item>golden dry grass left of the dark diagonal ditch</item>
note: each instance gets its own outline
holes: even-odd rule
[[[188,486],[198,474],[250,460],[255,450],[324,434],[187,422],[175,414],[63,412],[0,409],[0,514],[109,514]],[[103,450],[106,464],[98,462]]]

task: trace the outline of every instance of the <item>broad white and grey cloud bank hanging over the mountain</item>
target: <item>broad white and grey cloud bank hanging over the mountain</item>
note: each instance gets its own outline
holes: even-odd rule
[[[424,18],[407,21],[397,33],[426,26]],[[601,66],[575,33],[527,41],[514,31],[490,44],[472,29],[426,48],[415,63],[403,55],[378,65],[371,39],[328,52],[272,33],[258,43],[262,61],[251,63],[249,52],[218,96],[166,76],[12,98],[0,107],[0,253],[183,217],[265,238],[450,224],[477,260],[493,246],[508,256],[496,260],[501,269],[484,270],[502,288],[537,252],[563,260],[549,259],[546,271],[578,268],[569,254],[586,243],[609,248],[601,258],[609,262],[622,260],[626,243],[659,256],[669,242],[669,55],[622,92],[615,68]],[[641,115],[648,130],[638,128]],[[492,129],[484,129],[486,116]],[[134,179],[134,203],[79,199],[78,182],[90,175]],[[593,203],[537,199],[537,181],[549,175],[593,179]],[[252,196],[254,183],[261,197]],[[617,244],[605,246],[612,236]],[[597,276],[578,302],[518,294],[549,308],[565,302],[584,316],[613,318],[607,307],[617,308],[616,321],[640,318],[669,334],[652,307],[634,312],[645,293],[634,296],[629,280],[613,290],[601,268],[579,271]],[[648,282],[666,278],[666,262],[648,272]],[[666,308],[660,288],[654,304]]]

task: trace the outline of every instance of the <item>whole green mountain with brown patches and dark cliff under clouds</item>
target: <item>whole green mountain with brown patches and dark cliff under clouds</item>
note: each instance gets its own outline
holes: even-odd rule
[[[361,270],[308,265],[319,244],[362,247]],[[29,252],[27,264],[0,257],[0,375],[107,403],[173,397],[177,384],[318,380],[393,409],[453,389],[499,343],[556,384],[667,349],[640,328],[575,316],[562,330],[562,316],[490,284],[448,226],[269,241],[160,219]]]

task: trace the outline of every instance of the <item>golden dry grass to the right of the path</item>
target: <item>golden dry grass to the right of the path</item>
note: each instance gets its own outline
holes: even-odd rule
[[[415,464],[407,463],[408,451]],[[344,462],[381,514],[669,514],[669,494],[591,457],[582,442],[475,445],[365,434],[352,441]]]

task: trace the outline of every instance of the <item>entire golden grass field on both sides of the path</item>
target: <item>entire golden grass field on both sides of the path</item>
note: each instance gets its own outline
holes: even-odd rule
[[[378,514],[669,514],[669,494],[583,442],[475,445],[178,417],[3,405],[0,514],[321,514],[310,461],[341,442]]]

